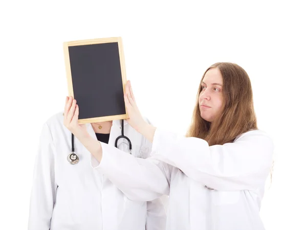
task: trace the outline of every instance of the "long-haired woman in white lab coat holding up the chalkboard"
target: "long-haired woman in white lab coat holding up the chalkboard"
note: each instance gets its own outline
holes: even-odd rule
[[[208,68],[187,137],[145,122],[129,82],[125,104],[128,123],[152,142],[153,156],[137,159],[92,140],[89,151],[100,162],[98,171],[132,200],[169,194],[168,230],[264,229],[259,209],[273,143],[257,129],[252,87],[242,67],[222,62]]]

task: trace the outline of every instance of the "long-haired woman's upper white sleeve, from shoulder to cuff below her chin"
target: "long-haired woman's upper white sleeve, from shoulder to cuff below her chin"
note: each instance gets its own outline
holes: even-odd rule
[[[273,148],[271,137],[260,130],[246,132],[234,143],[209,146],[205,140],[157,128],[152,158],[215,190],[257,190],[269,175]]]

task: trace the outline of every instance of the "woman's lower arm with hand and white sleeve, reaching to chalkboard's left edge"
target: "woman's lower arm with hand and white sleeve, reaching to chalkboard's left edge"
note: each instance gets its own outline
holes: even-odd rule
[[[170,171],[167,164],[136,158],[94,140],[84,124],[78,124],[79,106],[76,103],[72,97],[66,98],[64,125],[92,154],[95,169],[107,176],[131,200],[150,201],[169,193]]]

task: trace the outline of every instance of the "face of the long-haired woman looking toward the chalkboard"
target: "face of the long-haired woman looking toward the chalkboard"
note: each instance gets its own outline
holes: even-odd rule
[[[213,122],[223,106],[223,77],[218,68],[210,68],[202,81],[202,91],[199,96],[201,116],[208,122]]]

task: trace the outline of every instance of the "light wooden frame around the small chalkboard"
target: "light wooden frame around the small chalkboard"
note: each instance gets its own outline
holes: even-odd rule
[[[98,38],[98,39],[87,39],[87,40],[63,42],[64,61],[65,61],[65,69],[66,69],[69,96],[72,96],[74,98],[74,89],[73,89],[70,57],[69,57],[69,47],[72,47],[72,46],[75,46],[75,45],[101,44],[101,43],[110,43],[110,42],[117,42],[118,43],[121,76],[122,76],[122,84],[123,84],[123,93],[125,94],[125,87],[124,86],[125,86],[127,80],[126,80],[126,69],[125,69],[125,59],[124,59],[122,39],[121,39],[121,37],[110,37],[110,38]],[[77,102],[77,104],[78,104],[78,102]],[[104,121],[128,119],[129,117],[128,117],[128,114],[127,114],[126,106],[125,106],[125,111],[126,111],[125,114],[119,114],[119,115],[114,115],[114,116],[79,119],[78,123],[79,124],[85,124],[85,123],[94,123],[94,122],[104,122]]]

